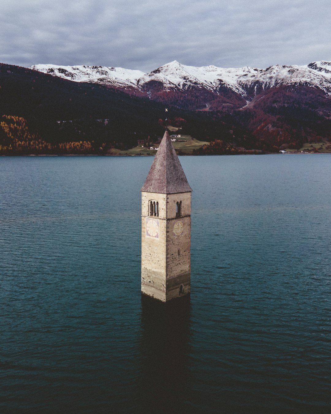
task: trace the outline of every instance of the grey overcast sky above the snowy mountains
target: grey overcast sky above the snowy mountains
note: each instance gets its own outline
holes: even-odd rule
[[[1,0],[0,61],[150,72],[331,60],[330,0]]]

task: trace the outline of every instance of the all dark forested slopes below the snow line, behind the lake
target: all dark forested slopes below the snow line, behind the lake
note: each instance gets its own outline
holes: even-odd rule
[[[203,108],[206,100],[209,107]],[[217,96],[198,87],[160,87],[146,98],[0,64],[0,154],[108,154],[114,147],[157,142],[166,116],[182,134],[217,141],[201,154],[218,154],[223,146],[230,154],[241,151],[228,150],[235,147],[278,152],[329,142],[330,113],[329,95],[303,84],[266,89],[251,101],[226,87]]]

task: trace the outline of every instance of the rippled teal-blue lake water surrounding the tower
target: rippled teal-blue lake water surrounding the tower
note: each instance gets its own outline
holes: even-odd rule
[[[0,157],[1,413],[330,413],[331,155],[180,157],[191,296],[140,294],[152,157]]]

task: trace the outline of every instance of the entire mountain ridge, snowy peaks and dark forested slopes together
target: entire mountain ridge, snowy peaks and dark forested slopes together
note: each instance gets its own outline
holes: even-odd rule
[[[78,75],[73,82],[65,67],[61,76],[52,76],[52,69],[44,66],[49,72],[44,73],[0,64],[0,115],[24,118],[33,134],[50,137],[52,148],[82,141],[91,142],[98,152],[103,144],[108,151],[153,142],[166,116],[168,125],[181,128],[181,134],[246,149],[278,152],[301,148],[304,142],[331,142],[331,68],[326,61],[301,69],[273,65],[265,70],[244,67],[239,73],[230,68],[222,77],[212,65],[201,70],[178,62],[148,76],[122,68],[107,72],[100,66],[75,67],[84,82],[77,81]],[[113,78],[115,74],[116,82],[108,77],[107,83],[95,83],[99,78],[104,82],[105,73]],[[141,89],[132,78],[141,82]]]

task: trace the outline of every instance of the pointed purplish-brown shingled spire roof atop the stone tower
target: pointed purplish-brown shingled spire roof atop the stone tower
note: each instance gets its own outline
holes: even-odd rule
[[[192,191],[167,130],[165,130],[158,152],[141,191],[162,194]]]

